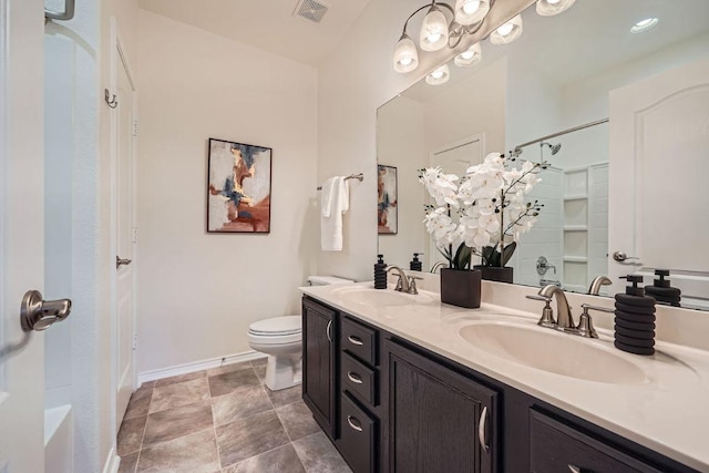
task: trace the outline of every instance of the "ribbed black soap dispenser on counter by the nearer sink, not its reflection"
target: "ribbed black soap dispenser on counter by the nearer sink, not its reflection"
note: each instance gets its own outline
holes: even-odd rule
[[[655,299],[638,287],[643,276],[628,275],[625,294],[616,294],[615,342],[617,349],[635,354],[655,353]]]

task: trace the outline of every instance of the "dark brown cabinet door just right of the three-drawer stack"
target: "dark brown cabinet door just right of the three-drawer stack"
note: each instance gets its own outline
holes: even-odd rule
[[[497,400],[491,389],[390,340],[389,470],[493,472]]]

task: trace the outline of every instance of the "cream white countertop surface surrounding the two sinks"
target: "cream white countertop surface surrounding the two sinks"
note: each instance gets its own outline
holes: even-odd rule
[[[372,282],[347,286],[373,287]],[[420,291],[430,300],[428,304],[372,307],[346,300],[342,287],[302,287],[300,290],[687,466],[709,472],[709,352],[656,340],[655,356],[630,354],[613,347],[613,331],[597,329],[599,339],[578,338],[578,341],[613,350],[614,354],[640,368],[646,380],[628,384],[579,380],[491,354],[459,335],[459,329],[470,325],[471,318],[535,326],[538,313],[485,302],[480,309],[463,309],[441,304],[436,292],[428,291]]]

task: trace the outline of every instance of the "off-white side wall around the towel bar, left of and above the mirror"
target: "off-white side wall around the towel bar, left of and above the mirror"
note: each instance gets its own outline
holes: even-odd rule
[[[508,19],[530,0],[508,0],[493,9],[495,21]],[[341,253],[319,253],[319,273],[371,280],[377,254],[377,107],[417,82],[455,51],[421,53],[419,69],[402,75],[393,71],[392,54],[401,28],[421,7],[414,0],[373,0],[347,37],[318,69],[318,177],[363,172],[364,182],[351,193],[345,219]],[[491,13],[493,14],[493,13]],[[412,21],[411,31],[420,23]],[[497,23],[499,24],[499,23]],[[464,48],[470,44],[461,44]]]

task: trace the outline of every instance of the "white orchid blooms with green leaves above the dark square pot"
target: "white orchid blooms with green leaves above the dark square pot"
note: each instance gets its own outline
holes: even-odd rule
[[[441,167],[421,169],[419,181],[435,200],[435,206],[425,206],[423,222],[450,268],[470,269],[471,255],[479,255],[483,266],[503,267],[520,235],[536,222],[543,204],[525,196],[546,164],[525,161],[520,168],[508,168],[515,160],[511,156],[491,153],[462,177]]]

